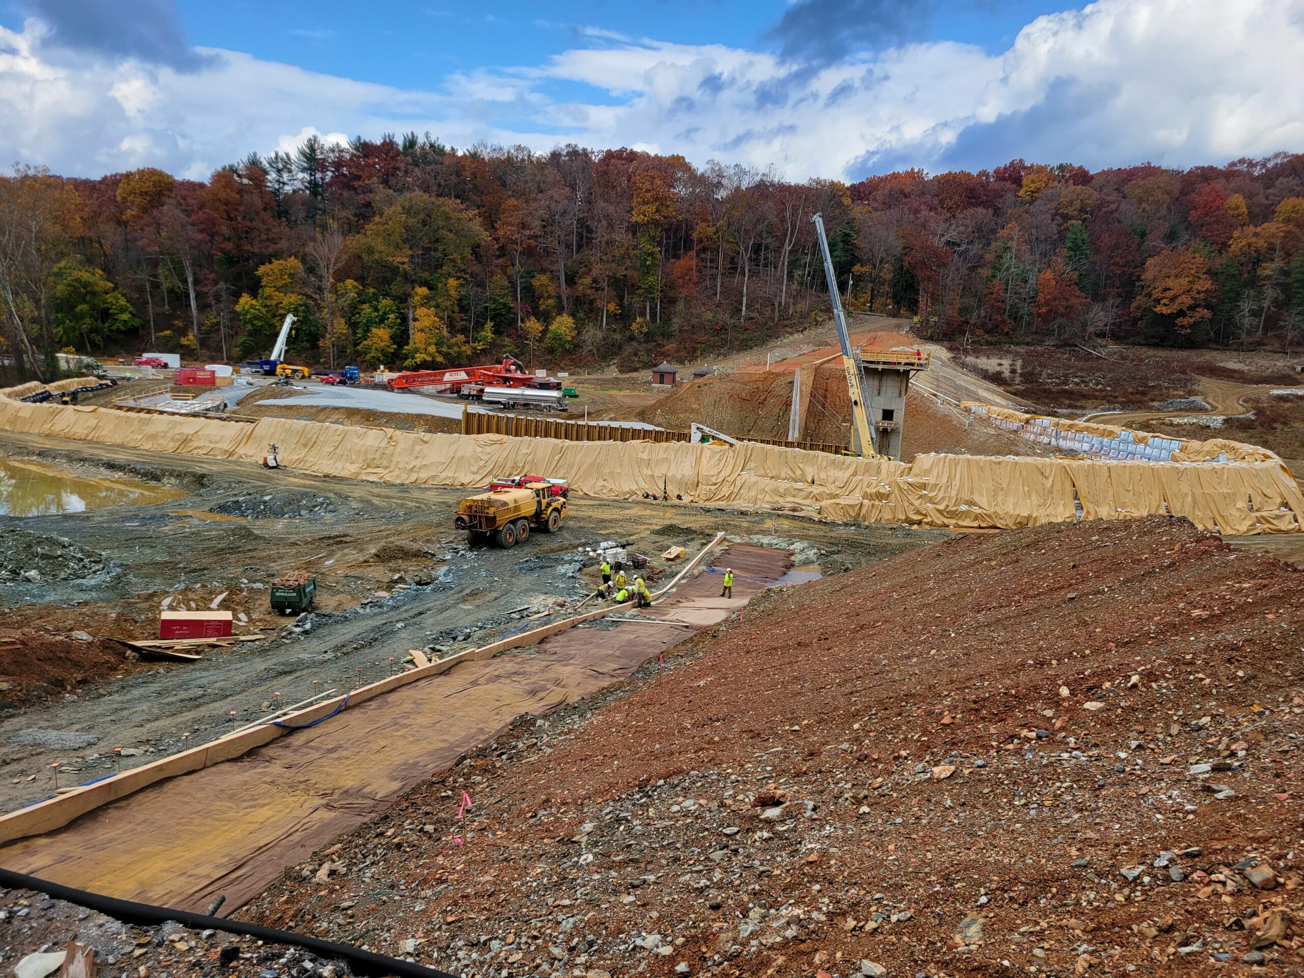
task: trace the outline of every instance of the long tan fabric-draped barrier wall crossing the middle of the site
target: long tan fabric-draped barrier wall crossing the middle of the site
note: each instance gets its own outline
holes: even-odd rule
[[[754,443],[569,442],[286,419],[236,425],[7,400],[0,428],[245,462],[275,443],[289,468],[385,482],[484,485],[505,473],[548,472],[585,496],[660,494],[665,486],[689,502],[818,509],[842,522],[1016,528],[1078,515],[1167,514],[1201,529],[1252,535],[1297,532],[1304,520],[1304,497],[1281,459],[1236,442],[1185,442],[1175,452],[1230,460],[919,455],[906,464]]]

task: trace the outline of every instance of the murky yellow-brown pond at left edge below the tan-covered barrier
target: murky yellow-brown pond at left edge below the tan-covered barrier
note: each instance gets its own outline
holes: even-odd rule
[[[0,516],[48,516],[100,506],[146,506],[184,494],[179,489],[134,479],[82,476],[39,462],[0,459]]]

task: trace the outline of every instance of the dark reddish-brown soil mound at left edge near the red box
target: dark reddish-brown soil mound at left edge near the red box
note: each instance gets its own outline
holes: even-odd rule
[[[0,703],[8,707],[59,699],[140,668],[125,647],[107,639],[80,642],[37,629],[0,632]]]

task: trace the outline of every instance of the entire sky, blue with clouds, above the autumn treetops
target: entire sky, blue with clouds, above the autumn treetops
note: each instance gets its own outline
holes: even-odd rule
[[[1304,0],[0,0],[0,163],[202,179],[306,134],[854,180],[1304,151]]]

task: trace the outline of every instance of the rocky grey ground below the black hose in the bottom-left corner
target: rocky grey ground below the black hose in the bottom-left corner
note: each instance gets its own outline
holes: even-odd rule
[[[192,931],[179,923],[126,925],[44,893],[0,889],[0,968],[13,971],[27,955],[64,951],[72,941],[94,952],[106,978],[344,978],[343,961],[323,961],[297,947],[265,944],[235,934]],[[59,969],[53,974],[60,974]]]

